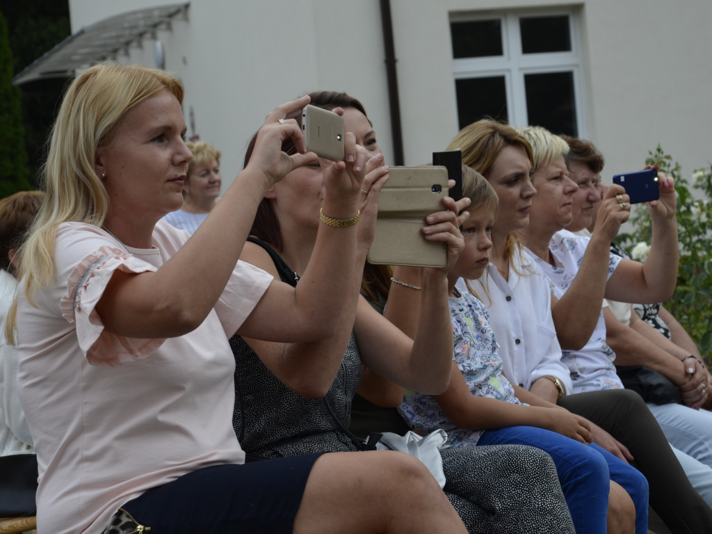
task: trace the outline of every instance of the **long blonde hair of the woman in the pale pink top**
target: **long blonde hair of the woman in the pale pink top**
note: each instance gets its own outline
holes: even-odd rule
[[[69,221],[95,226],[104,222],[109,199],[95,170],[97,148],[111,142],[114,127],[126,112],[162,90],[183,102],[183,85],[174,75],[117,63],[88,68],[69,85],[42,169],[46,197],[20,251],[20,276],[30,303],[38,287],[54,280],[57,227]],[[6,333],[14,332],[15,310],[8,315]]]

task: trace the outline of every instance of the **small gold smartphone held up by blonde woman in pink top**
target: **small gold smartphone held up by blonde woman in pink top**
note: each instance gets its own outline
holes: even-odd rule
[[[333,111],[308,104],[302,110],[307,150],[335,162],[344,159],[344,119]]]

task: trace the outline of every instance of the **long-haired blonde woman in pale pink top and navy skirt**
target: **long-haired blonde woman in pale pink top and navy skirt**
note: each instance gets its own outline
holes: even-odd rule
[[[106,63],[79,75],[59,110],[8,321],[38,456],[38,532],[464,533],[411,456],[244,464],[227,338],[337,328],[367,155],[347,135],[345,161],[322,162],[323,211],[353,224],[320,226],[321,252],[293,288],[238,258],[267,190],[315,162],[285,120],[309,99],[267,115],[251,164],[189,238],[159,221],[181,206],[192,158],[182,97],[172,75]]]

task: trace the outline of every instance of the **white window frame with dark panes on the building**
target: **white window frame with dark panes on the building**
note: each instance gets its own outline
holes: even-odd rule
[[[553,53],[522,53],[519,19],[521,17],[569,17],[571,51]],[[455,80],[503,76],[505,80],[508,122],[513,126],[528,125],[527,100],[524,76],[527,74],[559,73],[570,71],[573,75],[575,116],[578,137],[586,137],[584,114],[584,84],[582,80],[582,54],[580,16],[575,9],[537,9],[517,11],[487,11],[476,14],[451,14],[450,22],[499,19],[502,28],[502,56],[453,59]]]

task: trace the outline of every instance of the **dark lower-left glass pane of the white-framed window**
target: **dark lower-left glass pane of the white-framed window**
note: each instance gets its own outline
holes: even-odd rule
[[[455,80],[459,127],[484,117],[508,122],[504,76]]]

